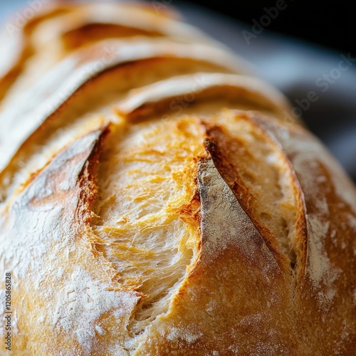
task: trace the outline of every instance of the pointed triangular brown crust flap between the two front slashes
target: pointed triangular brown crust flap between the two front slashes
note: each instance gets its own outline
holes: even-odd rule
[[[152,323],[137,354],[169,355],[173,350],[178,355],[267,354],[278,350],[293,355],[293,323],[287,322],[290,291],[276,259],[211,157],[199,163],[198,182],[199,261],[172,301],[170,313]],[[256,290],[263,292],[251,298]],[[273,328],[271,335],[276,318],[286,320],[286,329]]]

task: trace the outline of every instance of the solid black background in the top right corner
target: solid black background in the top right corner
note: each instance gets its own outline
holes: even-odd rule
[[[313,0],[305,3],[305,1],[285,0],[278,3],[276,0],[189,0],[186,3],[204,6],[211,11],[244,22],[246,25],[252,24],[253,19],[259,20],[265,15],[265,8],[271,9],[277,4],[283,7],[284,3],[286,9],[281,10],[281,16],[271,21],[271,24],[267,26],[268,30],[303,38],[315,44],[334,48],[336,51],[351,52],[356,55],[356,18],[353,1],[342,0],[328,3]]]

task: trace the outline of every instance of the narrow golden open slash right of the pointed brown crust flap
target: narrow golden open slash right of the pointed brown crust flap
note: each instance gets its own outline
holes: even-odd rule
[[[298,184],[284,152],[241,112],[224,110],[206,122],[216,168],[263,239],[295,266]]]

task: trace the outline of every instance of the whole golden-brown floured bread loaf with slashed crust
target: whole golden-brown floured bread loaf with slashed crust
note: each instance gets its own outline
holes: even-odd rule
[[[340,165],[224,46],[170,12],[101,9],[48,5],[22,37],[53,38],[0,81],[11,352],[352,355]]]

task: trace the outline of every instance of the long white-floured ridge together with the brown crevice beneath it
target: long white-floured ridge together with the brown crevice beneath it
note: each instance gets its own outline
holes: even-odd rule
[[[211,58],[216,55],[219,57]],[[111,107],[125,98],[128,90],[181,73],[229,73],[239,70],[239,61],[236,62],[234,56],[224,50],[167,40],[104,41],[66,58],[33,90],[21,95],[21,105],[10,105],[0,114],[4,128],[0,133],[0,148],[4,152],[0,156],[0,179],[7,182],[2,189],[0,185],[0,201],[9,196],[4,188],[12,184],[11,179],[19,169],[19,162],[28,161],[36,154],[31,147],[48,142],[48,134],[56,135],[61,127],[69,126],[68,130],[71,130],[70,125],[79,120],[83,121],[81,128],[73,129],[75,134],[70,135],[67,144],[90,127],[100,125],[105,116],[110,116],[108,120],[117,121],[110,114]],[[112,80],[114,75],[116,80]],[[63,78],[66,80],[63,81]],[[103,95],[101,90],[105,90],[108,96]],[[70,110],[78,112],[78,117],[68,115]],[[88,112],[92,115],[90,120],[85,117]],[[47,156],[65,145],[61,142],[58,147],[56,139],[49,141],[54,142],[54,147],[50,148]],[[33,162],[36,168],[31,170],[39,169],[45,163],[37,159]],[[16,182],[16,185],[22,182]]]

